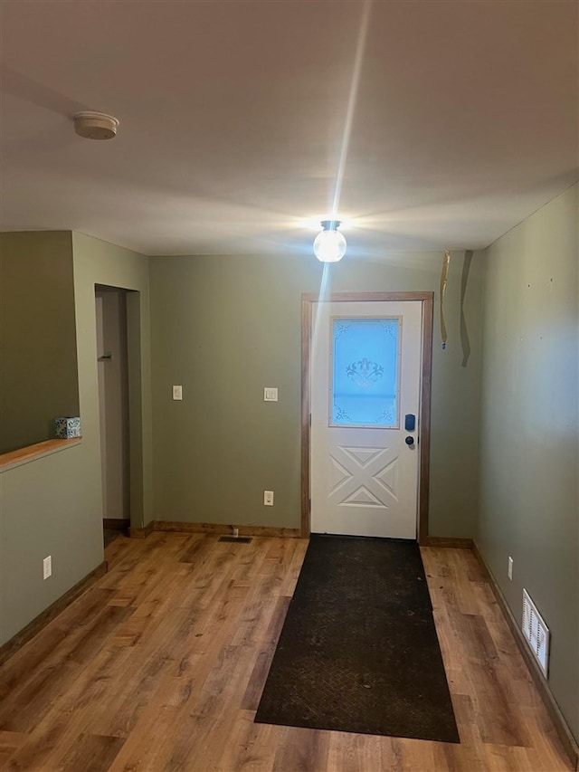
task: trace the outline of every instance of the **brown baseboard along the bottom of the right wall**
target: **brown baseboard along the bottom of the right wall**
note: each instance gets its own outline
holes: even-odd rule
[[[559,739],[561,740],[563,747],[565,748],[565,753],[569,757],[571,764],[573,765],[573,768],[576,772],[576,770],[579,770],[579,746],[577,745],[574,739],[571,729],[569,729],[567,722],[565,721],[565,717],[563,716],[563,713],[561,712],[561,710],[559,710],[559,706],[557,705],[555,701],[555,697],[553,696],[551,690],[548,687],[548,684],[545,680],[545,677],[543,676],[543,673],[541,672],[537,662],[529,652],[527,641],[523,637],[523,633],[519,629],[517,621],[513,616],[513,613],[510,610],[507,600],[503,595],[502,590],[498,586],[498,583],[495,577],[493,576],[489,566],[485,562],[485,559],[480,554],[479,548],[477,547],[476,542],[473,542],[472,549],[476,557],[479,558],[480,565],[484,568],[484,571],[489,580],[489,585],[495,597],[497,598],[497,603],[500,607],[500,610],[502,611],[505,619],[507,620],[507,624],[510,628],[510,632],[513,634],[515,643],[517,643],[518,649],[523,656],[523,660],[525,661],[525,664],[527,665],[527,670],[531,674],[531,678],[533,679],[533,681],[535,681],[536,689],[539,692],[541,700],[543,701],[543,704],[546,707],[546,711],[549,714],[549,717],[551,718],[551,720],[553,721],[553,724],[555,725],[555,731]]]

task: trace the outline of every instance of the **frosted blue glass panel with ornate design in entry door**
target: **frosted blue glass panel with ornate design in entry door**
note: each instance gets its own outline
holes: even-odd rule
[[[331,319],[330,426],[398,428],[400,323]]]

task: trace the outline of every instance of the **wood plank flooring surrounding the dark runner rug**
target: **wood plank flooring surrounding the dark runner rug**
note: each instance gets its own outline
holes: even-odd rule
[[[1,669],[0,768],[571,768],[467,549],[422,549],[460,745],[254,724],[306,548],[297,538],[115,539],[109,573]]]

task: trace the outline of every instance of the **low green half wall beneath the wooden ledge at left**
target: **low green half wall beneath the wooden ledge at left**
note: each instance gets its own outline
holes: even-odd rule
[[[0,645],[102,561],[90,474],[82,444],[0,471]]]

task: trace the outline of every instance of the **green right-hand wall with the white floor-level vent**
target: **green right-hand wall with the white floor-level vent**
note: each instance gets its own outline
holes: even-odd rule
[[[545,617],[549,686],[579,739],[577,192],[487,251],[477,544],[515,618],[523,587]]]

